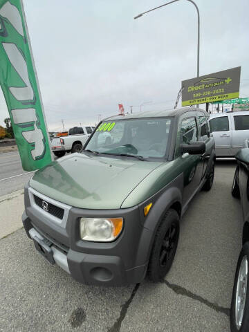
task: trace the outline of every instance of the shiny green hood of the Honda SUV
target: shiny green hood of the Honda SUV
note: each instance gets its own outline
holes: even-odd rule
[[[132,190],[161,164],[129,157],[71,154],[39,169],[30,186],[76,208],[118,209]]]

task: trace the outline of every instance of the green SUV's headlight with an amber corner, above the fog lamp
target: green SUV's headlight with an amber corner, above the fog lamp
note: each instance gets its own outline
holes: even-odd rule
[[[122,218],[81,218],[80,237],[85,241],[110,242],[122,231]]]

